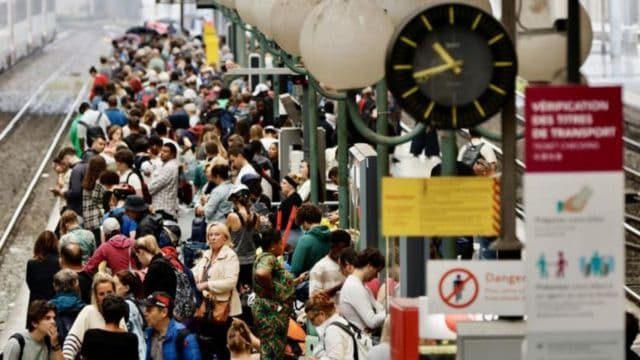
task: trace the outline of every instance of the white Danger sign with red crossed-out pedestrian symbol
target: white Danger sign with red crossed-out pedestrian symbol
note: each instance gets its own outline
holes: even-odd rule
[[[427,262],[431,313],[524,314],[522,261]]]

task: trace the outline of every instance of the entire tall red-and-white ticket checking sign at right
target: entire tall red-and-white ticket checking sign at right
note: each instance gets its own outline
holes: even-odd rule
[[[624,357],[619,87],[526,91],[527,359]]]

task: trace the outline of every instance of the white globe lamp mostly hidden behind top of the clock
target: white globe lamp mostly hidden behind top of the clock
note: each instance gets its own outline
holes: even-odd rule
[[[480,8],[488,13],[491,11],[489,0],[375,0],[391,18],[397,27],[404,23],[408,17],[413,17],[418,11],[427,7],[441,5],[445,3],[461,3]]]

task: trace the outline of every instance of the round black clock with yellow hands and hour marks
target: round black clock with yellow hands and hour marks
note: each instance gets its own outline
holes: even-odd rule
[[[430,7],[394,35],[389,90],[416,121],[470,128],[498,113],[518,73],[509,35],[491,14],[464,4]]]

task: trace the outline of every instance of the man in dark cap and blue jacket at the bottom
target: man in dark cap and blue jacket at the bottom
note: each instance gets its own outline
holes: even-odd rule
[[[196,337],[173,318],[173,299],[161,291],[145,300],[144,318],[147,359],[200,360],[200,347]]]

